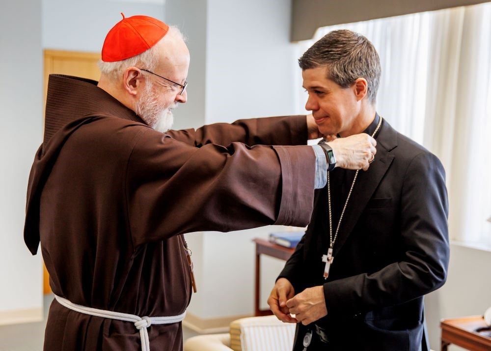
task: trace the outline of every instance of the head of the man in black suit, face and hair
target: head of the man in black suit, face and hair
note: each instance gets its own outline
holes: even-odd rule
[[[333,30],[299,59],[303,87],[324,135],[363,132],[375,117],[380,59],[373,44],[347,29]]]

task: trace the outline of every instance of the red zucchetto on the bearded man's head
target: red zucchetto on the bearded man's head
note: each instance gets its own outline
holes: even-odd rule
[[[104,62],[121,61],[141,54],[164,37],[169,26],[148,16],[132,16],[123,19],[109,30],[102,46]]]

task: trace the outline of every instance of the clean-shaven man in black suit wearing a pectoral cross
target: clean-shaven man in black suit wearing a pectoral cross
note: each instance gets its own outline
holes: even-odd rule
[[[368,133],[378,152],[367,172],[327,174],[271,309],[301,322],[295,351],[427,350],[423,296],[443,285],[449,258],[443,167],[376,113],[381,67],[364,36],[332,31],[299,63],[320,131]]]

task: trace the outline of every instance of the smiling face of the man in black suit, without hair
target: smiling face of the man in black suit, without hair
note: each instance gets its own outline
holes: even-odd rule
[[[308,92],[305,109],[312,111],[320,132],[351,135],[361,109],[358,83],[342,88],[327,78],[327,66],[305,69],[302,77]]]

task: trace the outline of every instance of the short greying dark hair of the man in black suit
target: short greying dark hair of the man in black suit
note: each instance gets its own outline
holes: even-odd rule
[[[312,45],[299,59],[302,70],[327,66],[327,78],[342,88],[358,78],[368,83],[368,100],[375,104],[381,67],[379,54],[363,35],[351,30],[333,30]]]

